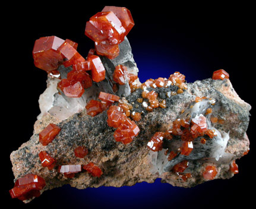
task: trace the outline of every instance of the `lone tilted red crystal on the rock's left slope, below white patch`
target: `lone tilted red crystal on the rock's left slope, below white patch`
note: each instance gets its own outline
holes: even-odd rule
[[[42,145],[48,145],[49,143],[54,140],[56,135],[59,134],[59,131],[61,131],[61,128],[55,124],[49,124],[39,133],[39,142]]]

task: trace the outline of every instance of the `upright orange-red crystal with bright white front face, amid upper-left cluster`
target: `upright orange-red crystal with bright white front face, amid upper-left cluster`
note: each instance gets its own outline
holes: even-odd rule
[[[99,56],[91,55],[87,58],[90,62],[91,78],[93,81],[100,82],[105,79],[105,67],[102,64]]]

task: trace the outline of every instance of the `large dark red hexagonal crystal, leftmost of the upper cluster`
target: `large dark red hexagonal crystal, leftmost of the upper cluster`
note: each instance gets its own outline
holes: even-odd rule
[[[57,50],[65,41],[56,36],[40,37],[34,43],[33,59],[37,68],[50,72],[62,64],[64,56]]]

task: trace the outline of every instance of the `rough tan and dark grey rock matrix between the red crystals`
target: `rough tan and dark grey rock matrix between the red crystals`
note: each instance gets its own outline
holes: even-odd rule
[[[121,55],[119,55],[119,58],[114,61],[102,58],[108,72],[106,77],[109,77],[109,80],[111,79],[113,66],[117,64],[125,63],[126,66],[129,66],[128,69],[130,71],[132,71],[131,69],[137,71],[132,54],[129,53],[130,56],[127,56],[128,51],[130,52],[130,49],[127,50],[128,41],[124,42],[125,44],[127,44],[125,49],[122,50],[122,47],[120,47]],[[125,50],[127,51],[125,52]],[[122,52],[125,52],[124,56]],[[54,85],[49,80],[54,79],[48,78],[48,86]],[[54,82],[56,83],[56,81]],[[108,82],[108,79],[104,82]],[[98,88],[100,88],[100,85],[105,84],[99,84]],[[131,186],[143,181],[151,183],[156,178],[162,178],[163,182],[174,186],[191,187],[206,181],[202,173],[207,165],[216,166],[217,175],[215,179],[231,178],[233,173],[229,170],[230,163],[242,157],[249,147],[246,129],[249,123],[251,106],[238,97],[229,80],[212,80],[209,78],[188,83],[187,86],[188,89],[184,93],[171,97],[167,97],[166,93],[176,91],[178,87],[175,85],[170,85],[168,88],[154,88],[159,94],[159,98],[166,100],[167,107],[166,109],[156,108],[153,112],[147,112],[141,103],[137,102],[137,99],[141,97],[141,89],[133,93],[129,92],[128,85],[125,87],[126,90],[119,89],[118,95],[126,96],[128,102],[134,107],[133,111],[142,113],[141,121],[136,122],[140,128],[140,133],[132,143],[126,145],[116,142],[113,138],[115,129],[109,127],[106,123],[106,111],[93,118],[86,114],[86,109],[84,108],[64,118],[56,116],[55,113],[52,113],[52,110],[54,109],[53,107],[57,106],[56,101],[58,101],[58,98],[56,99],[56,97],[61,97],[61,95],[52,93],[52,96],[55,97],[52,99],[53,105],[46,105],[48,107],[46,107],[44,113],[42,112],[39,120],[34,125],[34,134],[30,140],[21,145],[17,151],[11,153],[14,181],[27,173],[35,173],[42,176],[46,181],[43,191],[64,184],[70,184],[78,189],[99,186]],[[149,88],[148,90],[151,89]],[[153,134],[156,131],[166,131],[166,129],[171,128],[172,122],[181,116],[182,110],[185,110],[185,113],[191,112],[191,105],[195,105],[194,101],[197,96],[212,98],[215,101],[215,105],[212,105],[214,107],[214,116],[225,120],[224,124],[210,124],[222,133],[219,139],[217,138],[215,142],[214,140],[209,140],[208,144],[206,143],[205,145],[194,143],[194,153],[189,156],[179,155],[170,162],[166,160],[166,156],[163,154],[166,148],[173,146],[168,141],[164,141],[162,151],[150,151],[147,148],[147,143]],[[93,96],[86,97],[86,100],[91,97]],[[84,103],[81,106],[84,107]],[[207,106],[211,106],[211,103],[207,102]],[[50,122],[60,126],[61,132],[52,143],[43,146],[39,143],[39,132]],[[225,144],[225,139],[227,144]],[[223,140],[224,142],[220,144],[218,140]],[[223,153],[211,154],[218,143],[222,146]],[[79,145],[84,145],[89,150],[89,154],[83,159],[75,157],[74,154],[74,149]],[[95,178],[87,172],[80,172],[75,174],[75,178],[68,179],[58,173],[57,169],[48,170],[46,167],[42,167],[38,156],[42,150],[48,151],[59,165],[94,162],[102,169],[103,175],[100,178]],[[186,172],[192,175],[187,181],[183,181],[176,173],[171,171],[174,164],[184,159],[189,161],[189,167]]]

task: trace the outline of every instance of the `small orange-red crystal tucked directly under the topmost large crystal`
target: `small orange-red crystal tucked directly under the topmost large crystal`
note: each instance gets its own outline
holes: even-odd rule
[[[95,42],[94,44],[97,55],[106,56],[109,59],[115,59],[119,55],[119,46],[117,44],[110,45],[106,40]]]

